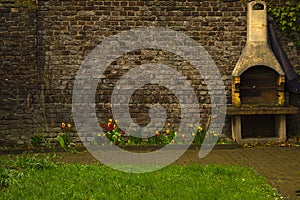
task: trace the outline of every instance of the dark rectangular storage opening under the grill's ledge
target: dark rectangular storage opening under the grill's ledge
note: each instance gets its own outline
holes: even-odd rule
[[[241,116],[242,139],[278,137],[275,115]]]

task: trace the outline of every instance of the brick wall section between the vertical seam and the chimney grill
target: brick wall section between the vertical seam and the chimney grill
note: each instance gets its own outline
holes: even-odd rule
[[[246,37],[246,7],[241,2],[215,1],[40,1],[38,5],[39,66],[47,126],[58,127],[69,120],[72,81],[88,53],[110,35],[143,26],[162,26],[180,31],[199,42],[215,60],[226,88],[231,85],[231,71],[239,58]],[[97,108],[101,121],[111,117],[110,94],[116,81],[129,69],[145,63],[175,66],[193,80],[201,103],[201,123],[209,113],[209,98],[201,77],[195,78],[189,64],[171,53],[141,50],[124,55],[108,66]],[[163,102],[178,117],[178,106],[169,91],[149,87],[137,91],[130,105],[135,121],[149,122],[148,107],[141,102]],[[139,95],[143,93],[142,95]],[[142,96],[142,97],[141,97]],[[150,98],[153,97],[153,98]],[[228,92],[230,96],[230,92]],[[97,96],[98,97],[98,96]],[[135,98],[136,97],[136,98]],[[230,98],[229,98],[230,99]],[[174,106],[167,106],[173,102]],[[169,116],[172,117],[172,116]],[[175,119],[170,119],[172,122]]]

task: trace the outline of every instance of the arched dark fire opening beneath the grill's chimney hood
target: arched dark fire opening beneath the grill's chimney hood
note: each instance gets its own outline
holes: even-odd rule
[[[278,104],[278,73],[270,67],[254,66],[241,75],[242,104]]]

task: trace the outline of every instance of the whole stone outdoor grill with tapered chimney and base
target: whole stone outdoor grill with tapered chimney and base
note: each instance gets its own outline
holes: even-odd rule
[[[288,105],[285,73],[268,44],[266,3],[247,10],[247,42],[232,72],[232,138],[238,143],[285,141]]]

